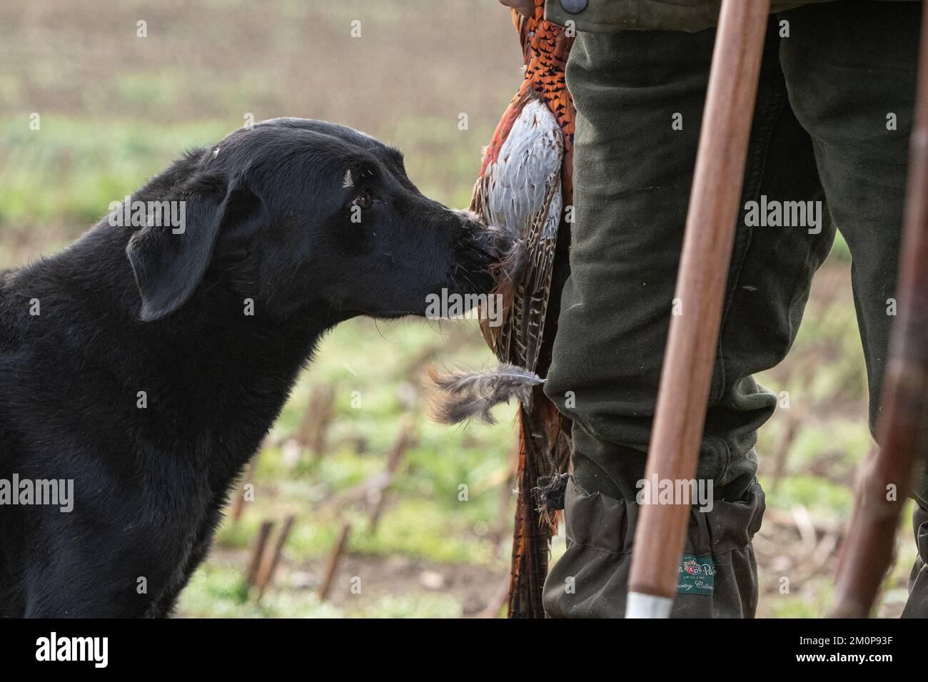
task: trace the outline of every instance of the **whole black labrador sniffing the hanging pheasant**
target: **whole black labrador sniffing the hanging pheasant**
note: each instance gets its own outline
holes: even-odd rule
[[[0,273],[3,616],[170,615],[319,337],[486,293],[510,245],[422,196],[393,148],[303,119],[110,208]]]

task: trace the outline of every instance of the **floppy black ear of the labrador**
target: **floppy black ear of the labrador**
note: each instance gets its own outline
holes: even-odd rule
[[[224,179],[199,178],[198,188],[187,196],[180,208],[182,226],[143,227],[126,246],[144,322],[171,315],[187,302],[209,268],[224,225],[241,234],[264,211],[261,200],[241,182],[229,186]]]

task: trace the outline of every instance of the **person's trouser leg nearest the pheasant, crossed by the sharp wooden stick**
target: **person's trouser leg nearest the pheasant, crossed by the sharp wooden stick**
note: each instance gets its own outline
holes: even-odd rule
[[[808,136],[789,109],[775,24],[754,112],[742,205],[815,199]],[[664,345],[674,308],[715,31],[580,33],[567,80],[577,105],[571,277],[546,392],[574,418],[568,548],[545,587],[551,615],[622,616]],[[715,585],[680,594],[675,616],[752,616],[750,540],[763,492],[755,431],[777,398],[752,379],[786,354],[833,233],[751,227],[740,216],[686,551]],[[681,405],[682,408],[682,405]],[[706,558],[711,557],[711,560]],[[703,569],[704,570],[704,569]],[[682,585],[681,589],[686,589]]]

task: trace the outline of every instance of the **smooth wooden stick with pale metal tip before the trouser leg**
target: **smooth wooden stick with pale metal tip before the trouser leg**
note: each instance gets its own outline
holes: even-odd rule
[[[702,114],[676,299],[661,374],[646,477],[696,474],[741,181],[760,73],[769,0],[723,0]],[[666,618],[690,504],[643,505],[632,552],[626,618]]]

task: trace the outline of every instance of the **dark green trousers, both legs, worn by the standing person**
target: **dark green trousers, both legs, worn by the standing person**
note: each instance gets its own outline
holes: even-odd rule
[[[754,444],[777,396],[752,375],[789,351],[835,228],[853,257],[871,428],[879,414],[920,12],[826,3],[770,19],[697,472],[717,502],[694,509],[687,541],[688,553],[712,557],[714,593],[677,598],[675,615],[754,614],[750,539],[764,508]],[[581,32],[568,62],[575,220],[546,392],[574,419],[574,477],[568,549],[546,585],[551,615],[625,608],[714,42],[714,29]],[[787,217],[799,206],[788,202],[803,202],[805,216]]]

